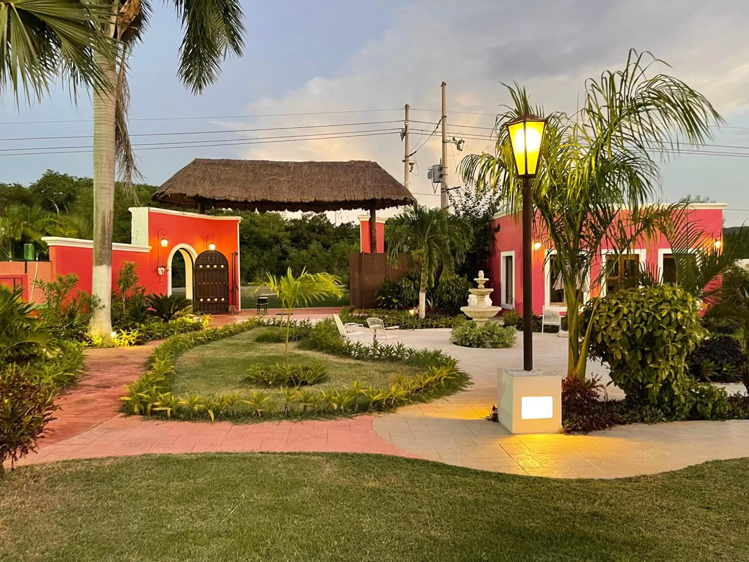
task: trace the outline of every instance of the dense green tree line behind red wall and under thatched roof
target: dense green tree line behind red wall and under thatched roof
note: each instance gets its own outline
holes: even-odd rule
[[[35,254],[46,259],[49,251],[41,241],[43,236],[90,239],[93,187],[91,178],[53,170],[47,170],[28,186],[0,183],[0,259],[22,259],[23,244],[34,244]],[[156,189],[157,186],[149,184],[135,184],[133,195],[120,182],[115,185],[113,241],[130,242],[130,207],[164,207],[151,200]],[[359,251],[357,225],[334,225],[324,214],[314,213],[297,218],[252,211],[231,211],[231,214],[243,218],[239,226],[243,282],[252,282],[266,274],[282,275],[288,268],[327,272],[348,281],[348,255]],[[184,269],[180,271],[177,264],[175,260],[175,286],[184,280]]]

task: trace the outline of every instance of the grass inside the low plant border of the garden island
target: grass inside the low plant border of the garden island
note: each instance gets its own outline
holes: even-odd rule
[[[235,391],[246,396],[252,390],[266,390],[280,397],[278,389],[252,386],[243,380],[246,370],[253,363],[273,366],[284,362],[282,343],[255,342],[255,338],[262,332],[262,329],[255,329],[181,354],[177,360],[172,391],[178,396],[209,396]],[[290,343],[289,349],[289,363],[318,361],[327,366],[327,380],[315,384],[315,390],[343,390],[343,387],[350,386],[354,381],[361,381],[371,387],[387,387],[398,375],[415,375],[423,371],[404,363],[335,357],[319,351],[300,349],[296,343]]]

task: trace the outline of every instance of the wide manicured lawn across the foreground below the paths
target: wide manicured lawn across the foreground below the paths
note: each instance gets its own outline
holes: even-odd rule
[[[8,561],[749,558],[748,459],[610,481],[322,453],[89,459],[7,476]]]

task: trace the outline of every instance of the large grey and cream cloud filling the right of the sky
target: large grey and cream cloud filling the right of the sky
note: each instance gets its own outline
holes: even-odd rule
[[[663,70],[703,91],[729,116],[748,109],[749,3],[648,0],[496,0],[448,2],[413,0],[395,10],[380,39],[351,53],[333,76],[319,76],[279,97],[248,104],[251,113],[331,112],[394,108],[389,112],[296,115],[274,118],[269,127],[331,123],[372,123],[327,130],[397,129],[401,108],[413,109],[411,146],[419,175],[415,193],[431,193],[426,169],[440,160],[439,135],[428,130],[439,119],[440,82],[448,84],[449,136],[486,133],[491,116],[509,101],[500,82],[521,82],[534,103],[547,110],[574,111],[589,76],[622,67],[628,49],[649,50],[668,61]],[[430,109],[430,111],[423,111]],[[484,112],[470,115],[459,112]],[[243,123],[242,125],[246,125]],[[237,123],[231,126],[237,127]],[[421,131],[418,131],[421,130]],[[295,131],[294,131],[295,132]],[[428,139],[428,140],[427,140]],[[468,139],[470,152],[491,150],[491,142]],[[452,184],[461,154],[448,151]],[[463,153],[465,154],[465,153]],[[395,178],[403,177],[403,146],[397,133],[348,139],[279,142],[243,149],[242,157],[270,160],[377,160]],[[740,159],[731,159],[740,160]],[[437,204],[435,196],[422,202]]]

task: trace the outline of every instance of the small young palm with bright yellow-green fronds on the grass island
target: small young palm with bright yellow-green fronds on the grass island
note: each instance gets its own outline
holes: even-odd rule
[[[291,328],[291,313],[297,306],[309,306],[313,302],[319,302],[325,297],[342,297],[343,293],[338,287],[341,280],[331,274],[308,274],[306,269],[298,277],[294,277],[291,268],[286,274],[276,277],[267,274],[265,279],[258,279],[252,283],[253,293],[261,288],[267,287],[276,293],[281,305],[286,311],[286,337],[284,345],[285,365],[288,366],[288,334]]]

